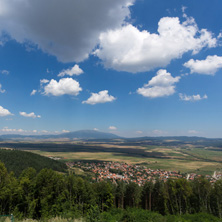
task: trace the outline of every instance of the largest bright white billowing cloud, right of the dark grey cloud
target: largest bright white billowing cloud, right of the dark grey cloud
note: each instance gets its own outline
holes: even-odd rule
[[[216,44],[211,32],[199,30],[193,18],[180,23],[178,17],[164,17],[157,33],[140,31],[131,24],[102,33],[94,54],[106,68],[137,73],[165,67],[188,51],[196,54]]]

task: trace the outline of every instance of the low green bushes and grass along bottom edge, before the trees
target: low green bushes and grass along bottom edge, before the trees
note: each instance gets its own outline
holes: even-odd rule
[[[0,220],[1,221],[1,220]],[[185,214],[179,215],[165,215],[150,212],[143,209],[128,208],[127,210],[113,209],[108,212],[88,214],[85,218],[72,219],[55,217],[51,219],[41,219],[41,222],[221,222],[222,220],[206,213]],[[1,222],[11,222],[5,219]],[[15,220],[15,222],[39,222],[39,220],[24,219]]]

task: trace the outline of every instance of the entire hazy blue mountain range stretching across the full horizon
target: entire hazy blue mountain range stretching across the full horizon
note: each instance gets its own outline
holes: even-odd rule
[[[188,137],[188,136],[169,136],[169,137],[137,137],[124,138],[113,133],[104,133],[97,130],[79,130],[75,132],[52,134],[52,135],[19,135],[8,134],[0,135],[0,141],[32,141],[32,140],[102,140],[109,141],[115,139],[122,139],[125,143],[140,143],[143,141],[147,144],[153,145],[176,145],[192,143],[195,145],[215,145],[222,146],[221,138],[205,138],[205,137]]]

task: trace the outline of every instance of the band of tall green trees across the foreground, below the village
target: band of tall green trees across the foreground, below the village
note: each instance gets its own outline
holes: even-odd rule
[[[221,221],[222,181],[212,185],[204,178],[178,179],[139,187],[91,183],[73,174],[51,169],[37,173],[33,168],[17,179],[0,163],[0,214],[11,213],[21,221],[55,217],[66,221]]]

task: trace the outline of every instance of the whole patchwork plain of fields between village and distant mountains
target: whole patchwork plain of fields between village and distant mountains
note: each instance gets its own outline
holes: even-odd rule
[[[222,169],[220,147],[180,142],[177,144],[172,140],[158,143],[148,145],[149,141],[19,142],[1,143],[0,147],[60,158],[63,162],[77,160],[126,162],[143,164],[151,169],[177,170],[182,173],[203,175],[213,174],[215,170]]]

